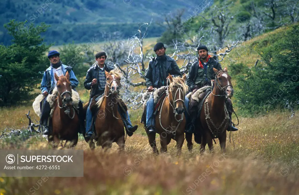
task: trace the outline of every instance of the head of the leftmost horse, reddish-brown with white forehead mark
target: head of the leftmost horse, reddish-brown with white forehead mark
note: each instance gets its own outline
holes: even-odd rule
[[[54,77],[57,81],[57,92],[62,100],[63,105],[65,106],[71,106],[73,99],[72,99],[72,88],[71,88],[71,82],[69,81],[70,76],[68,72],[66,72],[65,76],[61,75],[60,77],[57,76],[56,73],[54,73]]]

